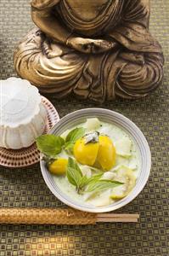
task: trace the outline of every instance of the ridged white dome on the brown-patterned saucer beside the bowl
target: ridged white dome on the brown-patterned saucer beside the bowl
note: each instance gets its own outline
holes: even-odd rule
[[[42,135],[46,118],[37,87],[24,79],[0,81],[0,147],[31,146]]]

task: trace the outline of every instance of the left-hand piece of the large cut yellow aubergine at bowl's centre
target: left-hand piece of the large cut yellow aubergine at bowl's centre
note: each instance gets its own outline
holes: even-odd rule
[[[73,153],[82,165],[93,166],[99,150],[99,143],[86,143],[85,138],[76,141]]]

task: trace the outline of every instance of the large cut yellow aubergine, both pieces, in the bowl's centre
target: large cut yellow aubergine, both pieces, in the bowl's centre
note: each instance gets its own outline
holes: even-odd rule
[[[85,138],[77,140],[74,156],[82,165],[93,166],[97,162],[104,171],[115,165],[115,147],[107,136],[99,136],[98,143],[86,143]]]

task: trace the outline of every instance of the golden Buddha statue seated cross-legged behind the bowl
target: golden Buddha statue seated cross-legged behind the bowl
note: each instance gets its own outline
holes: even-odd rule
[[[23,79],[60,98],[139,98],[160,84],[161,46],[149,0],[32,0],[31,30],[14,52]]]

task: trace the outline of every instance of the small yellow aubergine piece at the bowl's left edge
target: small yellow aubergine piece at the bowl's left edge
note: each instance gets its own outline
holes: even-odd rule
[[[48,171],[55,175],[64,175],[66,172],[67,164],[67,159],[59,158],[54,160],[54,162],[48,166]]]

